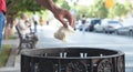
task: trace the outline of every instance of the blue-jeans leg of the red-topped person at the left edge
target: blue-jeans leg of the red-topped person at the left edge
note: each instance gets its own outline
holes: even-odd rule
[[[0,51],[2,50],[2,32],[3,32],[3,28],[4,28],[4,14],[3,12],[0,11]]]

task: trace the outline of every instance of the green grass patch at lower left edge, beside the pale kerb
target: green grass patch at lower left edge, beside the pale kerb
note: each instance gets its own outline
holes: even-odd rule
[[[0,53],[0,68],[6,65],[9,54],[10,54],[10,51],[11,51],[11,48],[12,48],[11,44],[2,45],[2,51]]]

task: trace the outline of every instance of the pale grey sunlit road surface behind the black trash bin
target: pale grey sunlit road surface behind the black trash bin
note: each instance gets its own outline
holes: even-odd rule
[[[57,28],[44,25],[40,28],[39,49],[44,48],[62,48],[62,47],[88,47],[88,48],[103,48],[121,50],[125,53],[126,72],[133,72],[133,38],[122,37],[115,34],[104,34],[75,31],[73,34],[66,37],[66,41],[60,41],[53,37]]]

